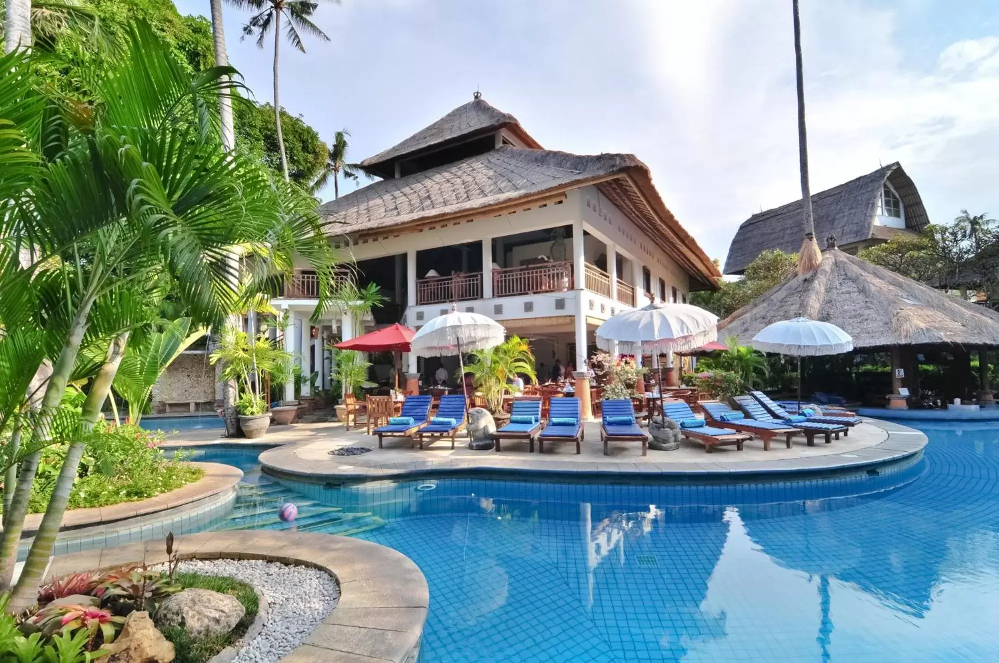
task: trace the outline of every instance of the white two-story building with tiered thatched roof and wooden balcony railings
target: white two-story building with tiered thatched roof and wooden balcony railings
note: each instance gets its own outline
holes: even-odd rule
[[[324,385],[330,338],[394,322],[420,328],[453,305],[529,338],[538,368],[556,358],[581,366],[610,316],[686,302],[720,276],[638,159],[544,150],[478,93],[361,166],[381,180],[320,210],[355,278],[378,284],[390,304],[360,324],[333,312],[317,328],[315,275],[305,271],[274,303],[292,317],[287,348],[305,374],[322,361]],[[438,359],[428,361],[409,356],[406,367],[433,372]]]

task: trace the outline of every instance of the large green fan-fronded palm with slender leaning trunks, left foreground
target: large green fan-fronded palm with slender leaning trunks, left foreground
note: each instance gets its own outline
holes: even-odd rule
[[[0,58],[0,342],[10,343],[12,359],[0,364],[9,371],[0,382],[15,387],[0,431],[18,428],[24,437],[7,454],[20,471],[16,484],[4,486],[13,495],[4,510],[0,584],[9,582],[42,449],[72,440],[15,606],[29,592],[33,600],[128,334],[149,322],[151,289],[168,279],[171,297],[198,324],[238,307],[239,269],[266,289],[298,256],[320,277],[321,312],[333,290],[333,254],[314,202],[219,147],[216,116],[206,109],[232,90],[223,78],[235,71],[192,76],[148,26],[129,35],[95,78],[93,104],[47,99],[33,55]],[[243,252],[239,263],[234,247]],[[90,357],[100,354],[83,350],[102,345],[107,351],[95,365]],[[37,413],[24,408],[41,365],[32,347],[51,361]],[[62,406],[77,375],[92,379],[82,412]]]

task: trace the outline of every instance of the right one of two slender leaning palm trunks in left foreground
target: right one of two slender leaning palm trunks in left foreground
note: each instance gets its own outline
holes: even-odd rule
[[[97,376],[90,386],[90,393],[87,394],[87,398],[83,402],[83,426],[85,430],[93,428],[101,417],[104,401],[111,393],[111,383],[114,381],[118,365],[125,355],[127,341],[128,332],[125,332],[112,340],[108,346],[104,363],[98,370]],[[21,571],[21,577],[18,578],[17,587],[15,587],[14,595],[11,598],[11,605],[15,609],[28,607],[35,600],[37,585],[45,573],[49,557],[55,547],[56,536],[59,534],[59,527],[66,514],[69,495],[73,490],[73,483],[76,481],[76,475],[80,469],[80,459],[83,457],[86,447],[86,443],[75,441],[69,445],[69,449],[66,451],[66,458],[59,470],[59,477],[56,479],[52,497],[49,498],[45,515],[42,516],[42,522],[31,542],[31,549],[24,562],[24,569]]]

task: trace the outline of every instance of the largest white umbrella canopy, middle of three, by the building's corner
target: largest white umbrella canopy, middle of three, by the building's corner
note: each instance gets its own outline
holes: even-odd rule
[[[597,346],[641,356],[682,352],[718,337],[718,317],[690,304],[649,304],[611,317],[596,328]],[[662,376],[659,376],[661,389]]]

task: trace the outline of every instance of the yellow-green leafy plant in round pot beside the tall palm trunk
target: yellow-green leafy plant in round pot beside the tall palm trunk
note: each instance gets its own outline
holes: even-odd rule
[[[261,396],[261,384],[284,365],[287,355],[285,350],[274,347],[264,330],[251,337],[246,331],[228,327],[209,357],[213,364],[222,362],[222,379],[236,380],[239,393],[236,407],[240,427],[247,437],[260,437],[271,425],[271,412],[267,400]]]

